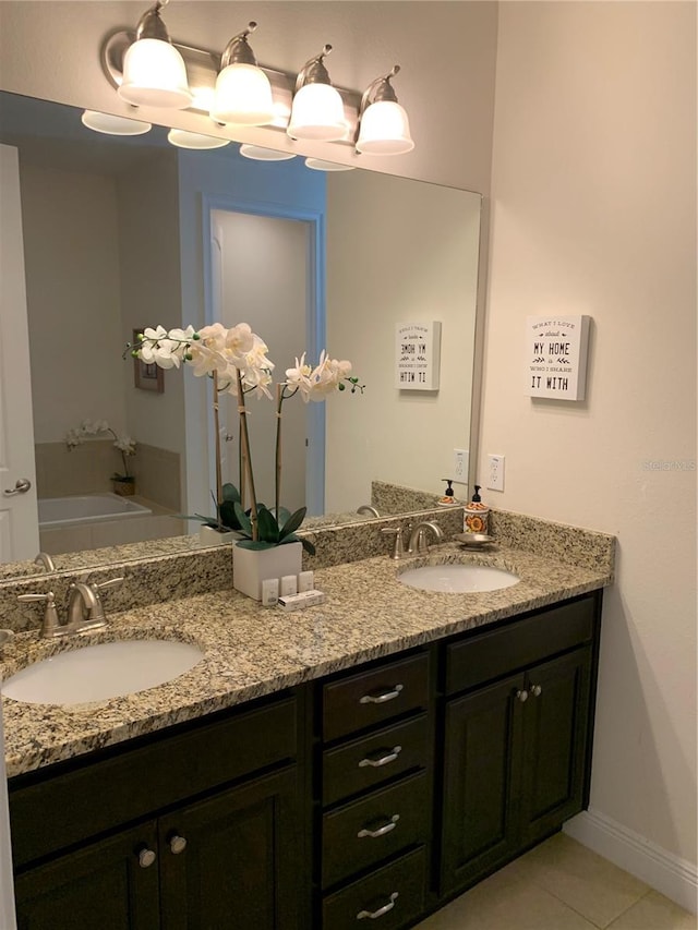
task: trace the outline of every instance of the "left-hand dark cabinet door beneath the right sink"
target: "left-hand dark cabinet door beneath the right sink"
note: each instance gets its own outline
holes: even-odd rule
[[[472,883],[516,847],[522,685],[516,675],[446,704],[442,894]]]

